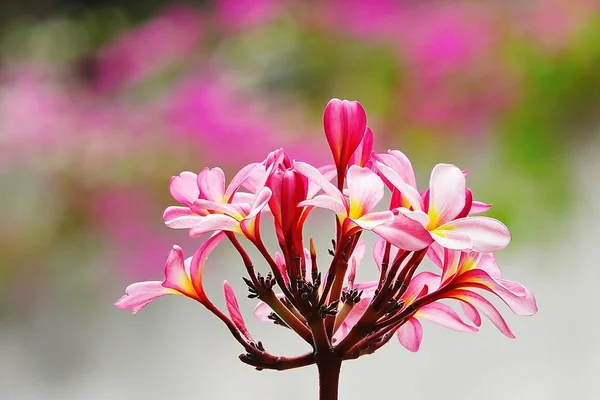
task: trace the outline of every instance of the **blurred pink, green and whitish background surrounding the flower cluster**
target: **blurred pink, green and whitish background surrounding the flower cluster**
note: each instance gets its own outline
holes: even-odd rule
[[[426,324],[417,354],[346,363],[340,398],[600,398],[598,65],[598,0],[3,2],[0,399],[316,398],[315,368],[254,371],[191,301],[113,303],[162,279],[172,244],[195,250],[162,223],[172,175],[231,176],[281,146],[328,163],[332,97],[359,100],[376,150],[401,149],[421,183],[437,162],[470,170],[513,233],[506,278],[540,307],[505,309],[513,341]],[[233,282],[251,320],[239,260],[212,260],[209,292]]]

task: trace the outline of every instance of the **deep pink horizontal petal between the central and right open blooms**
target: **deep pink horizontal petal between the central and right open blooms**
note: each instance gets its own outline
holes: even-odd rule
[[[391,223],[379,225],[372,231],[402,250],[422,250],[433,242],[421,224],[404,215],[394,215]]]

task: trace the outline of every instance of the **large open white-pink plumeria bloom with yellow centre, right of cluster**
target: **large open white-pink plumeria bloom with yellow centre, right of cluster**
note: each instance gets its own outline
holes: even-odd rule
[[[505,248],[510,232],[500,221],[470,217],[472,195],[465,174],[451,164],[438,164],[431,172],[429,189],[421,195],[408,158],[399,151],[376,156],[377,169],[392,189],[397,190],[398,211],[418,221],[431,239],[455,250],[493,252]],[[478,203],[476,211],[485,210]]]

